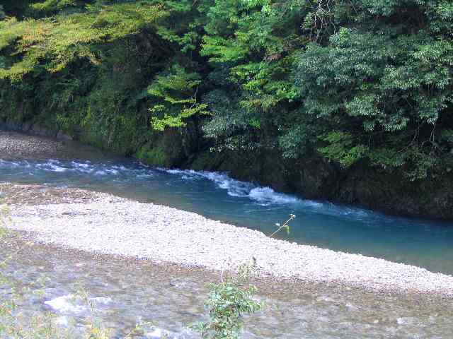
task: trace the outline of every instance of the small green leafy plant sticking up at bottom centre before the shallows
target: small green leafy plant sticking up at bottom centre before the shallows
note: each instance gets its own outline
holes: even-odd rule
[[[236,278],[224,277],[220,283],[210,285],[206,302],[209,320],[191,326],[207,339],[239,339],[243,331],[243,314],[253,314],[263,308],[262,302],[253,299],[256,287],[248,284],[255,266],[243,265]]]

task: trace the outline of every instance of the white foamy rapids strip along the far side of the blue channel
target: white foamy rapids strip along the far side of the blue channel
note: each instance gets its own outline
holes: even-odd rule
[[[29,162],[27,160],[0,160],[0,169],[23,169],[28,176],[35,176],[36,171],[53,172],[55,174],[71,173],[79,177],[93,176],[105,180],[111,179],[113,182],[130,182],[137,180],[146,181],[156,175],[156,169],[143,165],[140,162],[130,162],[127,165],[120,165],[109,162],[91,162],[73,160],[64,162],[63,160],[50,159],[44,162]],[[310,201],[297,198],[289,194],[277,193],[270,187],[263,187],[251,182],[242,182],[232,179],[225,173],[194,171],[193,169],[166,169],[157,168],[159,172],[172,174],[185,182],[193,182],[200,179],[207,179],[213,182],[217,189],[226,191],[226,194],[235,198],[248,198],[259,206],[287,206],[290,210],[302,208],[307,213],[329,215],[345,219],[362,220],[381,220],[385,222],[385,217],[379,213],[373,213],[362,208],[350,206],[338,206],[333,203]],[[189,184],[189,183],[188,183]]]

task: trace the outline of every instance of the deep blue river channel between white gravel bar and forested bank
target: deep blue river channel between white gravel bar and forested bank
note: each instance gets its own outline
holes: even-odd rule
[[[362,208],[280,194],[226,174],[159,169],[114,160],[0,160],[0,180],[71,186],[190,210],[270,234],[297,215],[278,237],[299,244],[453,273],[453,223],[396,218]]]

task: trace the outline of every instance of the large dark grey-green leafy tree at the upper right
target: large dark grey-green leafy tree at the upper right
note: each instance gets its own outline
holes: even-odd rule
[[[325,130],[320,153],[345,167],[367,159],[404,166],[411,179],[428,176],[442,155],[438,132],[453,99],[453,44],[445,39],[451,8],[357,1],[355,13],[337,10],[332,20],[347,27],[309,44],[295,73],[304,113]]]

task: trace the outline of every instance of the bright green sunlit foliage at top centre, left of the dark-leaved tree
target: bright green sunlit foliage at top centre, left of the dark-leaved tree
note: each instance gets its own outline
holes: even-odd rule
[[[293,2],[216,1],[207,12],[201,54],[215,66],[229,64],[246,109],[269,110],[297,95],[290,73],[302,40],[295,34],[300,8],[289,6]]]

